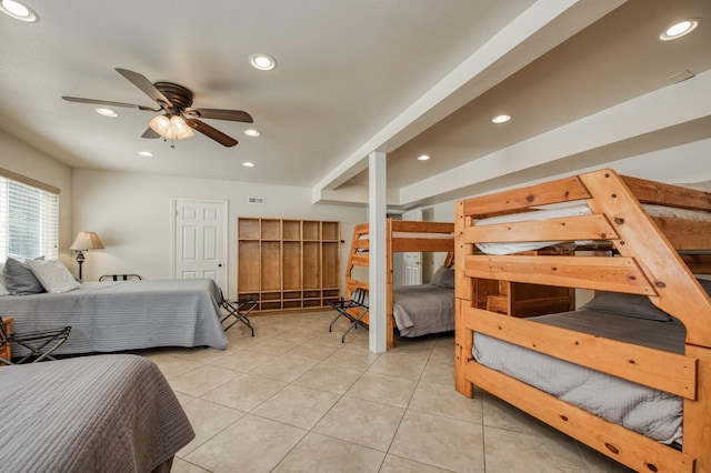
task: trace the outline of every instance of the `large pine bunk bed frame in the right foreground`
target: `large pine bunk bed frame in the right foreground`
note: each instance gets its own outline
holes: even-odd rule
[[[588,203],[591,215],[473,225],[487,217],[578,200]],[[711,273],[711,222],[651,218],[642,203],[711,211],[711,193],[601,170],[457,202],[457,391],[473,397],[474,383],[637,471],[711,472],[711,299],[692,274]],[[611,242],[612,251],[485,255],[474,246],[585,240]],[[684,354],[488,312],[475,303],[477,278],[648,295],[685,325]],[[681,396],[682,451],[477,363],[474,331]]]

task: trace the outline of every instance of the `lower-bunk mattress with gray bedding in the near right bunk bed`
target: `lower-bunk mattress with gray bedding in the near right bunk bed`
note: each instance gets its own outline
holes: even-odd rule
[[[528,320],[668,352],[684,350],[684,326],[645,296],[602,292],[578,311]],[[473,355],[484,366],[610,422],[662,443],[681,443],[683,403],[677,395],[481,333],[474,333]]]

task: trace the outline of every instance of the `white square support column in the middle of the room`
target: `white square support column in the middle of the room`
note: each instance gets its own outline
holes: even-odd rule
[[[369,349],[373,353],[388,350],[388,310],[387,310],[387,248],[385,219],[388,210],[388,189],[385,180],[385,153],[373,151],[368,157],[368,223],[369,266],[368,305]]]

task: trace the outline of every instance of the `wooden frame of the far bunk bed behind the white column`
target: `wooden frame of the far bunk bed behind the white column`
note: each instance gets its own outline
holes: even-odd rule
[[[453,223],[444,222],[412,222],[403,220],[388,219],[385,229],[387,239],[387,308],[388,308],[388,348],[394,346],[393,332],[395,329],[394,318],[392,315],[392,260],[395,252],[443,252],[449,253],[444,265],[451,265],[454,255],[454,238],[443,238],[444,234],[452,234],[454,231]],[[350,298],[352,291],[358,288],[368,289],[368,281],[358,280],[353,276],[353,269],[357,266],[367,268],[369,264],[368,256],[368,232],[369,224],[361,223],[353,229],[353,240],[348,256],[348,265],[346,268],[346,291]],[[363,318],[363,322],[368,323],[368,314]]]

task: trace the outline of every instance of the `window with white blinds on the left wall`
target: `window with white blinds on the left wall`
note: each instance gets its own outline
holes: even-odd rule
[[[0,262],[8,256],[59,258],[59,190],[0,169]]]

